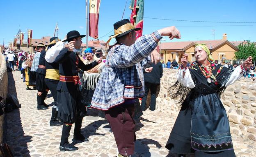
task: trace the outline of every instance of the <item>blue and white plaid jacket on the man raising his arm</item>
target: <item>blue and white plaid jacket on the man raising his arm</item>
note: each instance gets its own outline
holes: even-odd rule
[[[114,45],[107,54],[91,107],[108,110],[126,99],[143,97],[143,69],[151,63],[150,53],[161,38],[156,31],[151,35],[143,35],[131,46]]]

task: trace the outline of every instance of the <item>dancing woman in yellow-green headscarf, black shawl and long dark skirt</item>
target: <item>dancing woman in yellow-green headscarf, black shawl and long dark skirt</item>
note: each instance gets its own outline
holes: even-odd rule
[[[220,100],[226,86],[242,77],[251,57],[235,70],[216,64],[204,44],[194,49],[196,61],[187,67],[187,54],[170,87],[172,98],[181,98],[181,110],[165,146],[179,157],[235,157],[229,119]]]

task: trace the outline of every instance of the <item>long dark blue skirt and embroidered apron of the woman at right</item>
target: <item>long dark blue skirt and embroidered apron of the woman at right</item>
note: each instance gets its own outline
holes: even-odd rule
[[[229,120],[217,93],[197,97],[193,112],[189,103],[184,101],[165,147],[177,154],[194,152],[195,157],[235,157]]]

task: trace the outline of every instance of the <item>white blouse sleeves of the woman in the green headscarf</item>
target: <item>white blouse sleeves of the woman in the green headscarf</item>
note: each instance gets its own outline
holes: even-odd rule
[[[231,74],[231,76],[229,77],[228,82],[226,82],[226,86],[229,86],[233,83],[235,83],[235,81],[239,80],[242,77],[242,69],[241,66],[238,66],[235,68],[235,70],[233,71],[233,73]],[[178,73],[176,74],[177,80],[183,84],[183,86],[186,86],[188,88],[194,88],[194,81],[192,80],[191,74],[189,69],[187,68],[185,71],[185,75],[183,77],[183,71],[180,69],[178,70]]]

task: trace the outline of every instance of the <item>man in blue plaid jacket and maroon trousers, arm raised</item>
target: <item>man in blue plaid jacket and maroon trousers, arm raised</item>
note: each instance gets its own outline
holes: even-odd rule
[[[138,30],[140,28],[135,29],[128,19],[114,24],[115,34],[107,42],[116,38],[117,43],[107,54],[105,67],[91,101],[91,107],[105,111],[119,157],[129,157],[134,153],[134,103],[135,98],[144,95],[143,70],[150,62],[156,64],[160,61],[160,54],[153,50],[162,36],[171,39],[181,37],[175,27],[167,27],[136,40],[135,31]]]

